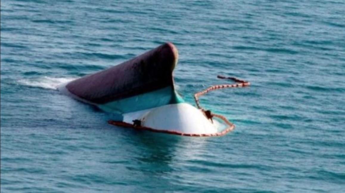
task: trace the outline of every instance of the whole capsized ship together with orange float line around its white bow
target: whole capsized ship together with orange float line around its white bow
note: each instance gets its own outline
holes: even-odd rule
[[[196,93],[196,108],[175,90],[172,72],[177,61],[177,48],[168,42],[119,65],[63,84],[59,90],[106,112],[121,114],[121,120],[109,121],[117,126],[186,136],[219,136],[233,130],[235,125],[224,116],[201,108],[198,97],[211,90],[245,87],[249,83],[229,78],[238,84],[216,85]]]

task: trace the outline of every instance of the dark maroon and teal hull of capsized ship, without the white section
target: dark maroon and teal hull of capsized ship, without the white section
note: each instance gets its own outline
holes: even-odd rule
[[[172,71],[178,52],[166,43],[138,57],[62,85],[59,90],[108,112],[127,113],[183,100]],[[135,102],[135,103],[134,103]]]

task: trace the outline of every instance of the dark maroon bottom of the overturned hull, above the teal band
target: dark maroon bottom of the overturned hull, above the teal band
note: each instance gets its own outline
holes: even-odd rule
[[[71,81],[68,91],[80,99],[105,104],[158,89],[174,90],[172,71],[178,53],[172,43],[165,43],[138,57]]]

